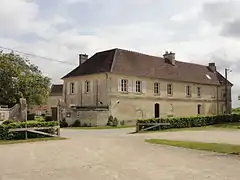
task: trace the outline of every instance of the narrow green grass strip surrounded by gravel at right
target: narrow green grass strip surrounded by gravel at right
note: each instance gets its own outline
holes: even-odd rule
[[[218,152],[218,153],[240,155],[240,145],[233,145],[233,144],[175,141],[175,140],[164,140],[164,139],[148,139],[146,140],[146,142],[149,142],[152,144],[177,146],[177,147],[183,147],[188,149],[197,149],[197,150],[205,150],[205,151],[212,151],[212,152]]]

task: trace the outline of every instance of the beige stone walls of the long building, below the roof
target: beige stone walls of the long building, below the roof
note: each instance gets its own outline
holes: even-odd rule
[[[122,79],[128,82],[127,92],[121,92],[120,82]],[[136,81],[141,82],[141,92],[136,92]],[[154,93],[154,83],[159,83],[158,94]],[[167,94],[168,84],[172,86],[172,95]],[[65,78],[63,86],[63,99],[66,108],[71,109],[70,106],[106,106],[109,107],[109,110],[106,111],[108,115],[113,115],[118,120],[130,120],[130,122],[139,118],[155,117],[156,104],[159,105],[160,117],[215,115],[225,111],[224,86],[124,76],[113,73]],[[189,96],[186,92],[187,86],[190,87]],[[200,96],[198,96],[198,88],[200,88]],[[228,88],[228,92],[231,94],[231,87]],[[231,101],[228,103],[231,107]],[[98,112],[82,112],[82,117],[87,116],[94,119],[92,117],[96,117],[95,113]],[[97,119],[99,122],[100,118]],[[105,120],[106,116],[104,115],[102,121],[105,123]]]

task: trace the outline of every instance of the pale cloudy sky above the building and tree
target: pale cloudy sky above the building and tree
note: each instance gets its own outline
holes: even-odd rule
[[[122,48],[231,69],[240,106],[240,0],[1,0],[0,47],[26,56],[53,83],[78,65],[78,54]],[[1,48],[0,48],[1,49]]]

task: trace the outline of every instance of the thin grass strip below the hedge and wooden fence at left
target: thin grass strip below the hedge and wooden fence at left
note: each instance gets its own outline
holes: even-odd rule
[[[30,142],[50,141],[50,140],[65,140],[65,139],[67,139],[67,138],[50,137],[50,138],[32,138],[32,139],[27,139],[27,140],[0,140],[0,145],[17,144],[17,143],[30,143]]]

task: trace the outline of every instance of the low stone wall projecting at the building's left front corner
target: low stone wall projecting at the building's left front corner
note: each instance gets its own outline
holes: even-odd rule
[[[76,120],[79,120],[81,125],[88,126],[106,126],[109,117],[108,110],[99,109],[71,109],[66,112],[66,122],[72,125]]]

